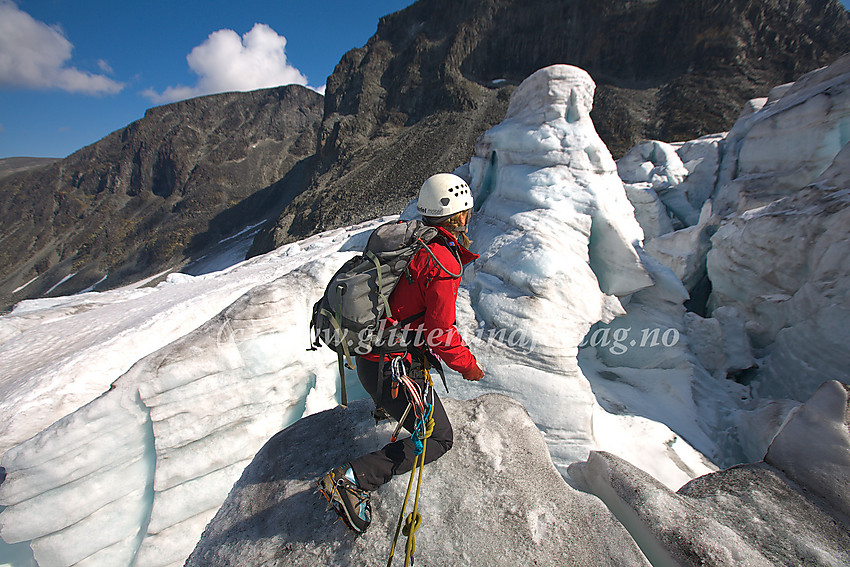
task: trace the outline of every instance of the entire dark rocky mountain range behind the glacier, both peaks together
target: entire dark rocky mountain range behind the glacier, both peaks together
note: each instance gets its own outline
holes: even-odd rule
[[[427,176],[465,163],[515,86],[548,64],[594,77],[592,118],[618,157],[644,138],[728,129],[747,100],[846,45],[837,0],[419,0],[343,55],[324,99],[278,88],[309,110],[291,109],[292,139],[274,148],[226,122],[198,136],[202,107],[230,99],[233,125],[280,135],[261,101],[283,91],[225,93],[151,109],[65,160],[0,179],[0,307],[179,269],[266,218],[249,256],[398,213]],[[139,130],[151,120],[183,126]]]

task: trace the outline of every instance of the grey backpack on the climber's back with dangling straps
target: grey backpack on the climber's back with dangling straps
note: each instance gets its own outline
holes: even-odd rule
[[[407,266],[413,256],[424,248],[443,270],[452,277],[460,277],[440,264],[426,246],[438,234],[435,227],[420,220],[379,226],[369,237],[363,254],[337,270],[325,293],[313,305],[311,348],[316,350],[324,343],[336,351],[343,406],[348,404],[344,365],[354,369],[352,353],[395,354],[413,347],[412,337],[399,331],[424,312],[396,321],[389,302],[399,280],[403,276],[411,277]]]

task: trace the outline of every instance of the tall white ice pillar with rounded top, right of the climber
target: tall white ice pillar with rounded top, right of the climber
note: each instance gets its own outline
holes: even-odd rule
[[[537,71],[469,166],[477,320],[521,330],[540,363],[574,359],[590,325],[623,313],[617,296],[652,285],[635,250],[643,233],[590,121],[593,90],[581,69]]]

